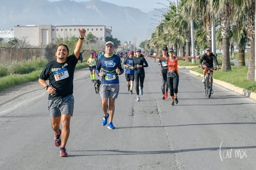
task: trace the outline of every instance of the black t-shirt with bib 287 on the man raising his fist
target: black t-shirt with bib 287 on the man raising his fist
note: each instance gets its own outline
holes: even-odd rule
[[[73,94],[73,80],[75,65],[78,59],[75,55],[67,57],[65,63],[49,62],[41,72],[40,79],[49,79],[49,86],[56,89],[56,94],[49,95],[48,99],[60,99]]]

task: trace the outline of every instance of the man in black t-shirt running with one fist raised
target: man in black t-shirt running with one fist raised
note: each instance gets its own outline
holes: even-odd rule
[[[66,144],[70,133],[70,118],[74,109],[74,71],[79,60],[85,32],[85,29],[79,29],[80,36],[72,55],[69,55],[69,48],[66,45],[60,44],[55,53],[56,61],[49,62],[38,79],[40,85],[49,93],[48,108],[51,126],[55,132],[54,145],[61,146],[61,157],[67,157]],[[46,83],[48,79],[49,84]],[[60,129],[60,123],[62,129]]]

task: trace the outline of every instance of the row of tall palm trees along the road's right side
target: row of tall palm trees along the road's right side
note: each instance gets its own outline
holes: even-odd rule
[[[230,51],[236,44],[239,65],[245,65],[245,46],[250,44],[247,79],[255,80],[255,0],[180,0],[171,3],[163,20],[156,26],[151,38],[141,46],[157,51],[163,46],[191,54],[191,31],[194,31],[195,49],[211,47],[211,31],[216,28],[216,44],[223,53],[222,71],[231,71]],[[191,24],[192,23],[192,24]]]

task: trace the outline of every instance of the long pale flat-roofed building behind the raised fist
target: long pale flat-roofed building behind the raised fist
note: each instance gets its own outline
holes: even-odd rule
[[[79,28],[85,28],[85,36],[92,33],[96,41],[105,42],[107,36],[111,37],[112,26],[105,25],[17,25],[14,26],[14,38],[31,46],[46,46],[56,39],[79,37]]]

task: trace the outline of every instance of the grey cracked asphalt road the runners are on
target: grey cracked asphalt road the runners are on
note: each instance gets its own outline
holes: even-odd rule
[[[140,102],[120,76],[114,130],[101,125],[88,69],[76,71],[68,158],[53,144],[37,82],[1,92],[0,169],[255,169],[255,100],[217,84],[207,99],[201,79],[179,68],[179,103],[171,107],[161,99],[159,66],[147,61]]]

